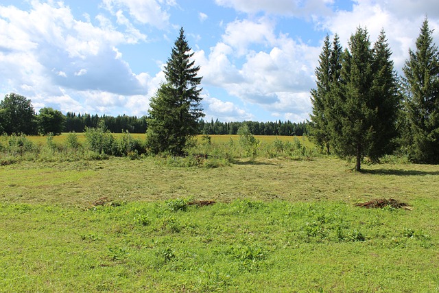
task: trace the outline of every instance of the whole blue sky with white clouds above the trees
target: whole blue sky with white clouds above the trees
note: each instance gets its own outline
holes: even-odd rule
[[[180,27],[210,121],[309,119],[324,37],[385,31],[397,72],[437,0],[0,0],[0,100],[34,109],[147,115]]]

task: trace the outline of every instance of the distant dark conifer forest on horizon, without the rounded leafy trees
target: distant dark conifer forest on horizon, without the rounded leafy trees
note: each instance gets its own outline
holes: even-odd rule
[[[67,112],[63,132],[84,132],[86,127],[95,128],[99,120],[104,120],[110,132],[121,133],[145,133],[147,130],[147,117],[136,117],[127,115],[98,116],[90,114],[75,114]],[[218,119],[204,121],[200,119],[198,129],[200,134],[237,134],[239,126],[246,124],[254,135],[297,135],[307,134],[307,122],[295,123],[291,121],[274,122],[221,122]]]

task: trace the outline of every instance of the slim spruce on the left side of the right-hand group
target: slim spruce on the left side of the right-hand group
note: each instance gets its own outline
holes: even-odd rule
[[[328,119],[330,115],[331,88],[340,80],[342,47],[340,40],[335,34],[333,45],[329,42],[329,36],[324,38],[322,53],[319,56],[319,66],[316,73],[317,89],[311,89],[311,104],[313,113],[311,117],[311,137],[324,148],[329,154],[331,143],[331,132],[329,130]]]

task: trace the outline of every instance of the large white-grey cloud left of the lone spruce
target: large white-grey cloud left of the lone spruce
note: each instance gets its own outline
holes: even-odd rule
[[[24,11],[0,5],[0,91],[20,92],[37,109],[50,104],[83,111],[88,106],[90,112],[107,114],[130,103],[122,96],[152,91],[151,83],[141,81],[147,73],[141,78],[132,73],[117,50],[117,45],[145,40],[123,16],[119,23],[126,30],[121,32],[102,15],[95,18],[98,25],[75,19],[62,2],[32,1],[31,6]]]

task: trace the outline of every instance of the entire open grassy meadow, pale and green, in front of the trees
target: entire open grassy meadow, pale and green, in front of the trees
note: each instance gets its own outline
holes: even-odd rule
[[[0,292],[439,292],[439,166],[238,153],[1,165]]]

